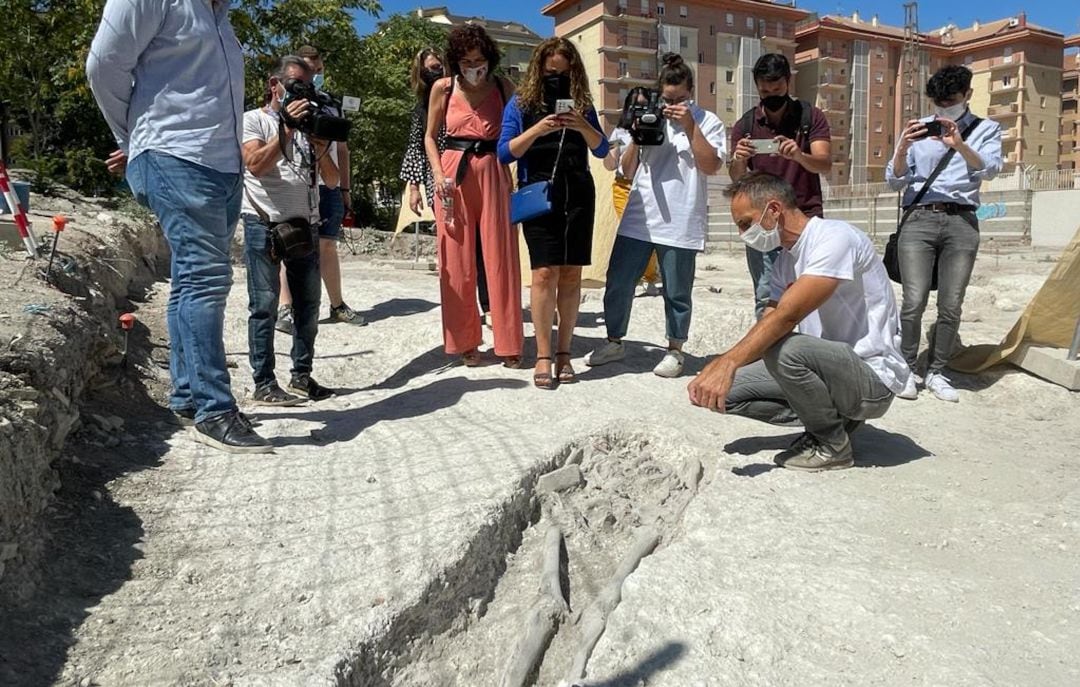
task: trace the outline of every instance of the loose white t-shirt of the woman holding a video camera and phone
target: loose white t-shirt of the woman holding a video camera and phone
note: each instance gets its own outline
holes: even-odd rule
[[[716,157],[727,157],[724,122],[697,105],[693,121]],[[619,234],[649,243],[692,251],[705,250],[708,225],[707,175],[698,170],[690,137],[683,127],[664,120],[665,140],[642,146],[640,162],[619,223]]]

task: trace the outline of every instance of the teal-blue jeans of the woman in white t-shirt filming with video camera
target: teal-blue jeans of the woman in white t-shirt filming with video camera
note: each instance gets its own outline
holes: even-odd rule
[[[608,338],[621,339],[626,336],[630,310],[634,305],[634,289],[653,251],[657,252],[660,279],[664,283],[667,339],[683,344],[690,336],[690,313],[693,310],[690,292],[693,289],[698,252],[619,235],[611,248],[607,286],[604,291],[604,320],[607,323]]]

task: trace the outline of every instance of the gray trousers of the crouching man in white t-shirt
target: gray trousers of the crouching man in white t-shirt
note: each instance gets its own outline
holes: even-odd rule
[[[735,373],[725,412],[772,425],[802,425],[839,449],[847,420],[881,417],[893,394],[847,344],[789,334]]]

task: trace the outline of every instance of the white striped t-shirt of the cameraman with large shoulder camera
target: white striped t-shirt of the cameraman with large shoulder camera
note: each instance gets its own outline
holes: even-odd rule
[[[278,112],[261,107],[244,112],[244,140],[266,143],[278,136]],[[255,176],[244,167],[244,199],[242,212],[259,213],[252,205],[254,199],[270,221],[284,221],[289,217],[308,217],[319,221],[319,189],[311,188],[312,149],[303,134],[296,132],[285,146],[289,160],[282,156],[274,169]]]

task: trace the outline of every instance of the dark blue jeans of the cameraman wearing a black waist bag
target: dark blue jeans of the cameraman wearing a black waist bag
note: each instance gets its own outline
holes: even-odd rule
[[[314,233],[314,230],[312,230]],[[319,239],[312,235],[318,246]],[[255,388],[276,383],[273,337],[281,296],[279,264],[270,259],[270,229],[255,215],[244,215],[244,265],[247,266],[247,348]],[[293,376],[311,374],[319,333],[319,251],[285,260],[285,280],[293,295]]]

